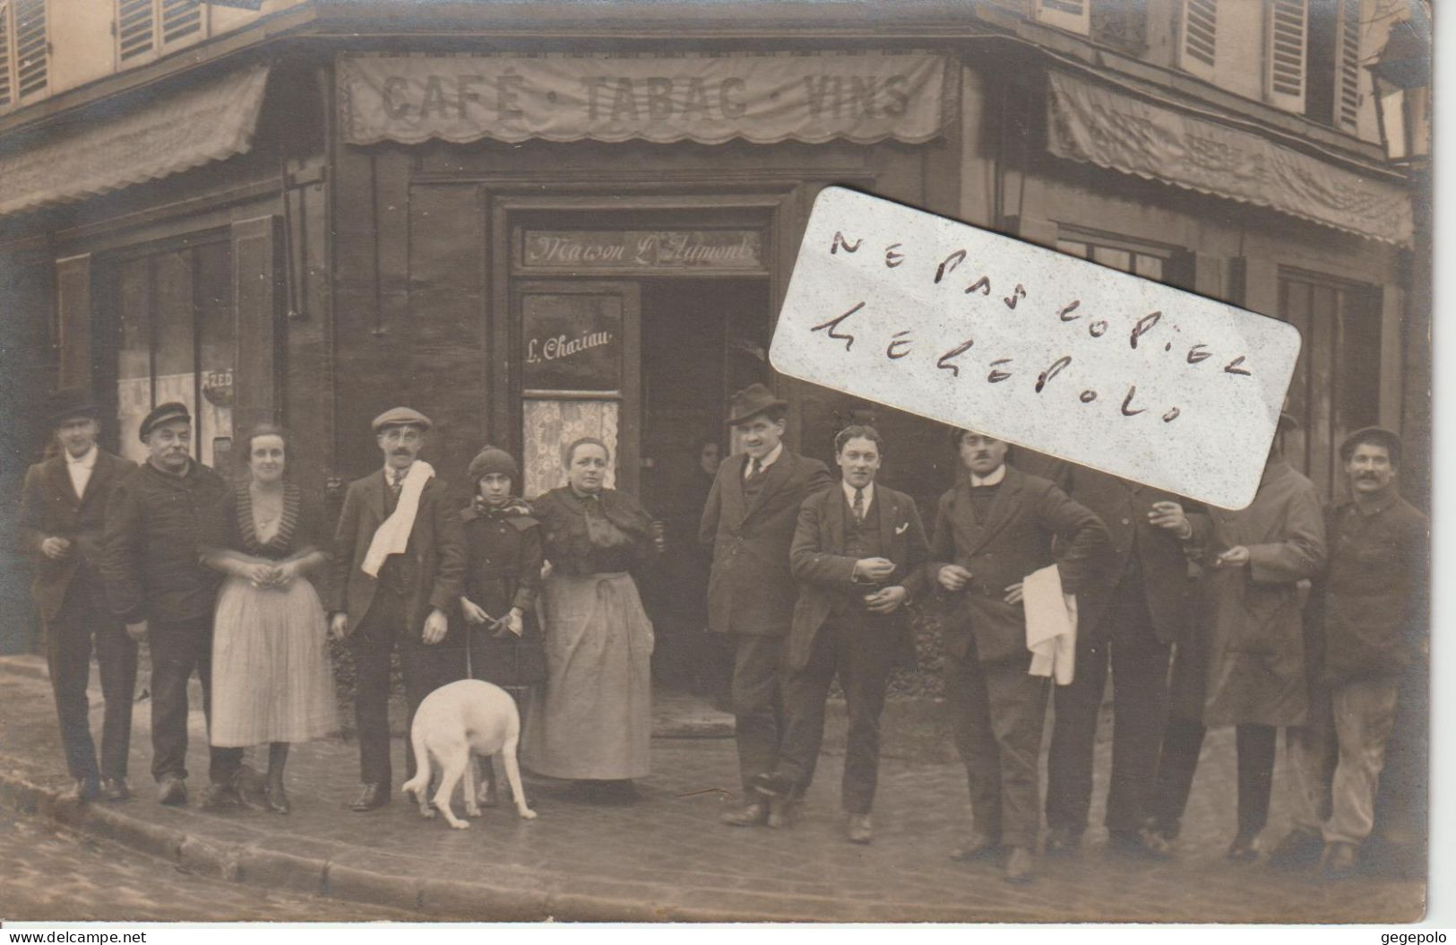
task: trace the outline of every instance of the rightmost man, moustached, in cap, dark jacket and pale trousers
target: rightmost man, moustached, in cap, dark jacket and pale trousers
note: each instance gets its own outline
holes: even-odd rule
[[[1312,684],[1328,687],[1338,746],[1331,811],[1321,826],[1313,820],[1319,811],[1305,805],[1280,845],[1290,859],[1319,852],[1331,875],[1353,872],[1370,836],[1402,676],[1424,661],[1430,593],[1430,523],[1401,498],[1401,438],[1367,427],[1345,438],[1340,459],[1350,498],[1325,510],[1329,566],[1315,585],[1310,613],[1312,648],[1324,651],[1321,679]],[[1331,747],[1331,719],[1318,722],[1307,729],[1310,773]]]

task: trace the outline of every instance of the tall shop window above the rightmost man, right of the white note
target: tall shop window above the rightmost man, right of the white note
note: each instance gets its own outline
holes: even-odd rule
[[[1278,288],[1280,317],[1303,336],[1284,405],[1300,430],[1286,435],[1286,459],[1334,497],[1341,440],[1380,421],[1380,294],[1294,271]]]

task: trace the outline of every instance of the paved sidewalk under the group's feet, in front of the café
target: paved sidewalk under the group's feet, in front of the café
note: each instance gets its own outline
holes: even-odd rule
[[[100,722],[96,693],[93,686],[93,728]],[[958,764],[887,759],[868,847],[842,839],[843,759],[833,754],[823,759],[792,830],[719,826],[718,814],[738,791],[734,744],[724,737],[654,738],[652,776],[638,783],[642,799],[632,807],[587,805],[572,801],[563,783],[530,782],[537,820],[521,821],[502,805],[470,830],[421,820],[397,783],[389,807],[345,810],[357,791],[357,747],[331,740],[294,748],[293,814],[211,814],[197,807],[207,770],[201,712],[192,715],[188,762],[192,805],[163,808],[147,775],[150,708],[141,703],[130,776],[137,796],[77,810],[55,799],[67,780],[44,664],[0,658],[0,807],[52,815],[207,875],[403,909],[421,919],[1393,923],[1417,920],[1424,910],[1421,881],[1361,875],[1324,882],[1227,863],[1232,732],[1216,732],[1206,744],[1176,861],[1108,855],[1105,831],[1093,826],[1077,858],[1044,859],[1038,882],[1012,887],[994,865],[946,859],[967,824]],[[683,734],[677,722],[684,706],[671,709],[673,725],[660,715],[658,731]],[[721,716],[711,712],[692,725],[699,734],[722,734]],[[1108,744],[1098,751],[1093,811],[1105,796]],[[402,754],[396,740],[400,769]],[[1281,773],[1265,833],[1273,840],[1284,831]]]

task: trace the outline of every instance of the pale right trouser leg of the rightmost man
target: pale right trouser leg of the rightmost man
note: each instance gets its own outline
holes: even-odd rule
[[[1334,699],[1340,762],[1324,834],[1331,843],[1363,843],[1374,826],[1374,798],[1395,728],[1399,684],[1395,679],[1358,680],[1337,689]]]

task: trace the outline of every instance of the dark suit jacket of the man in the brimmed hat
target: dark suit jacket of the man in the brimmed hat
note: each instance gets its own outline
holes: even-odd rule
[[[834,479],[817,459],[789,451],[764,470],[763,488],[750,502],[743,494],[748,456],[718,466],[708,492],[697,539],[712,549],[708,577],[708,628],[718,633],[786,636],[798,584],[789,572],[789,545],[799,505]]]

